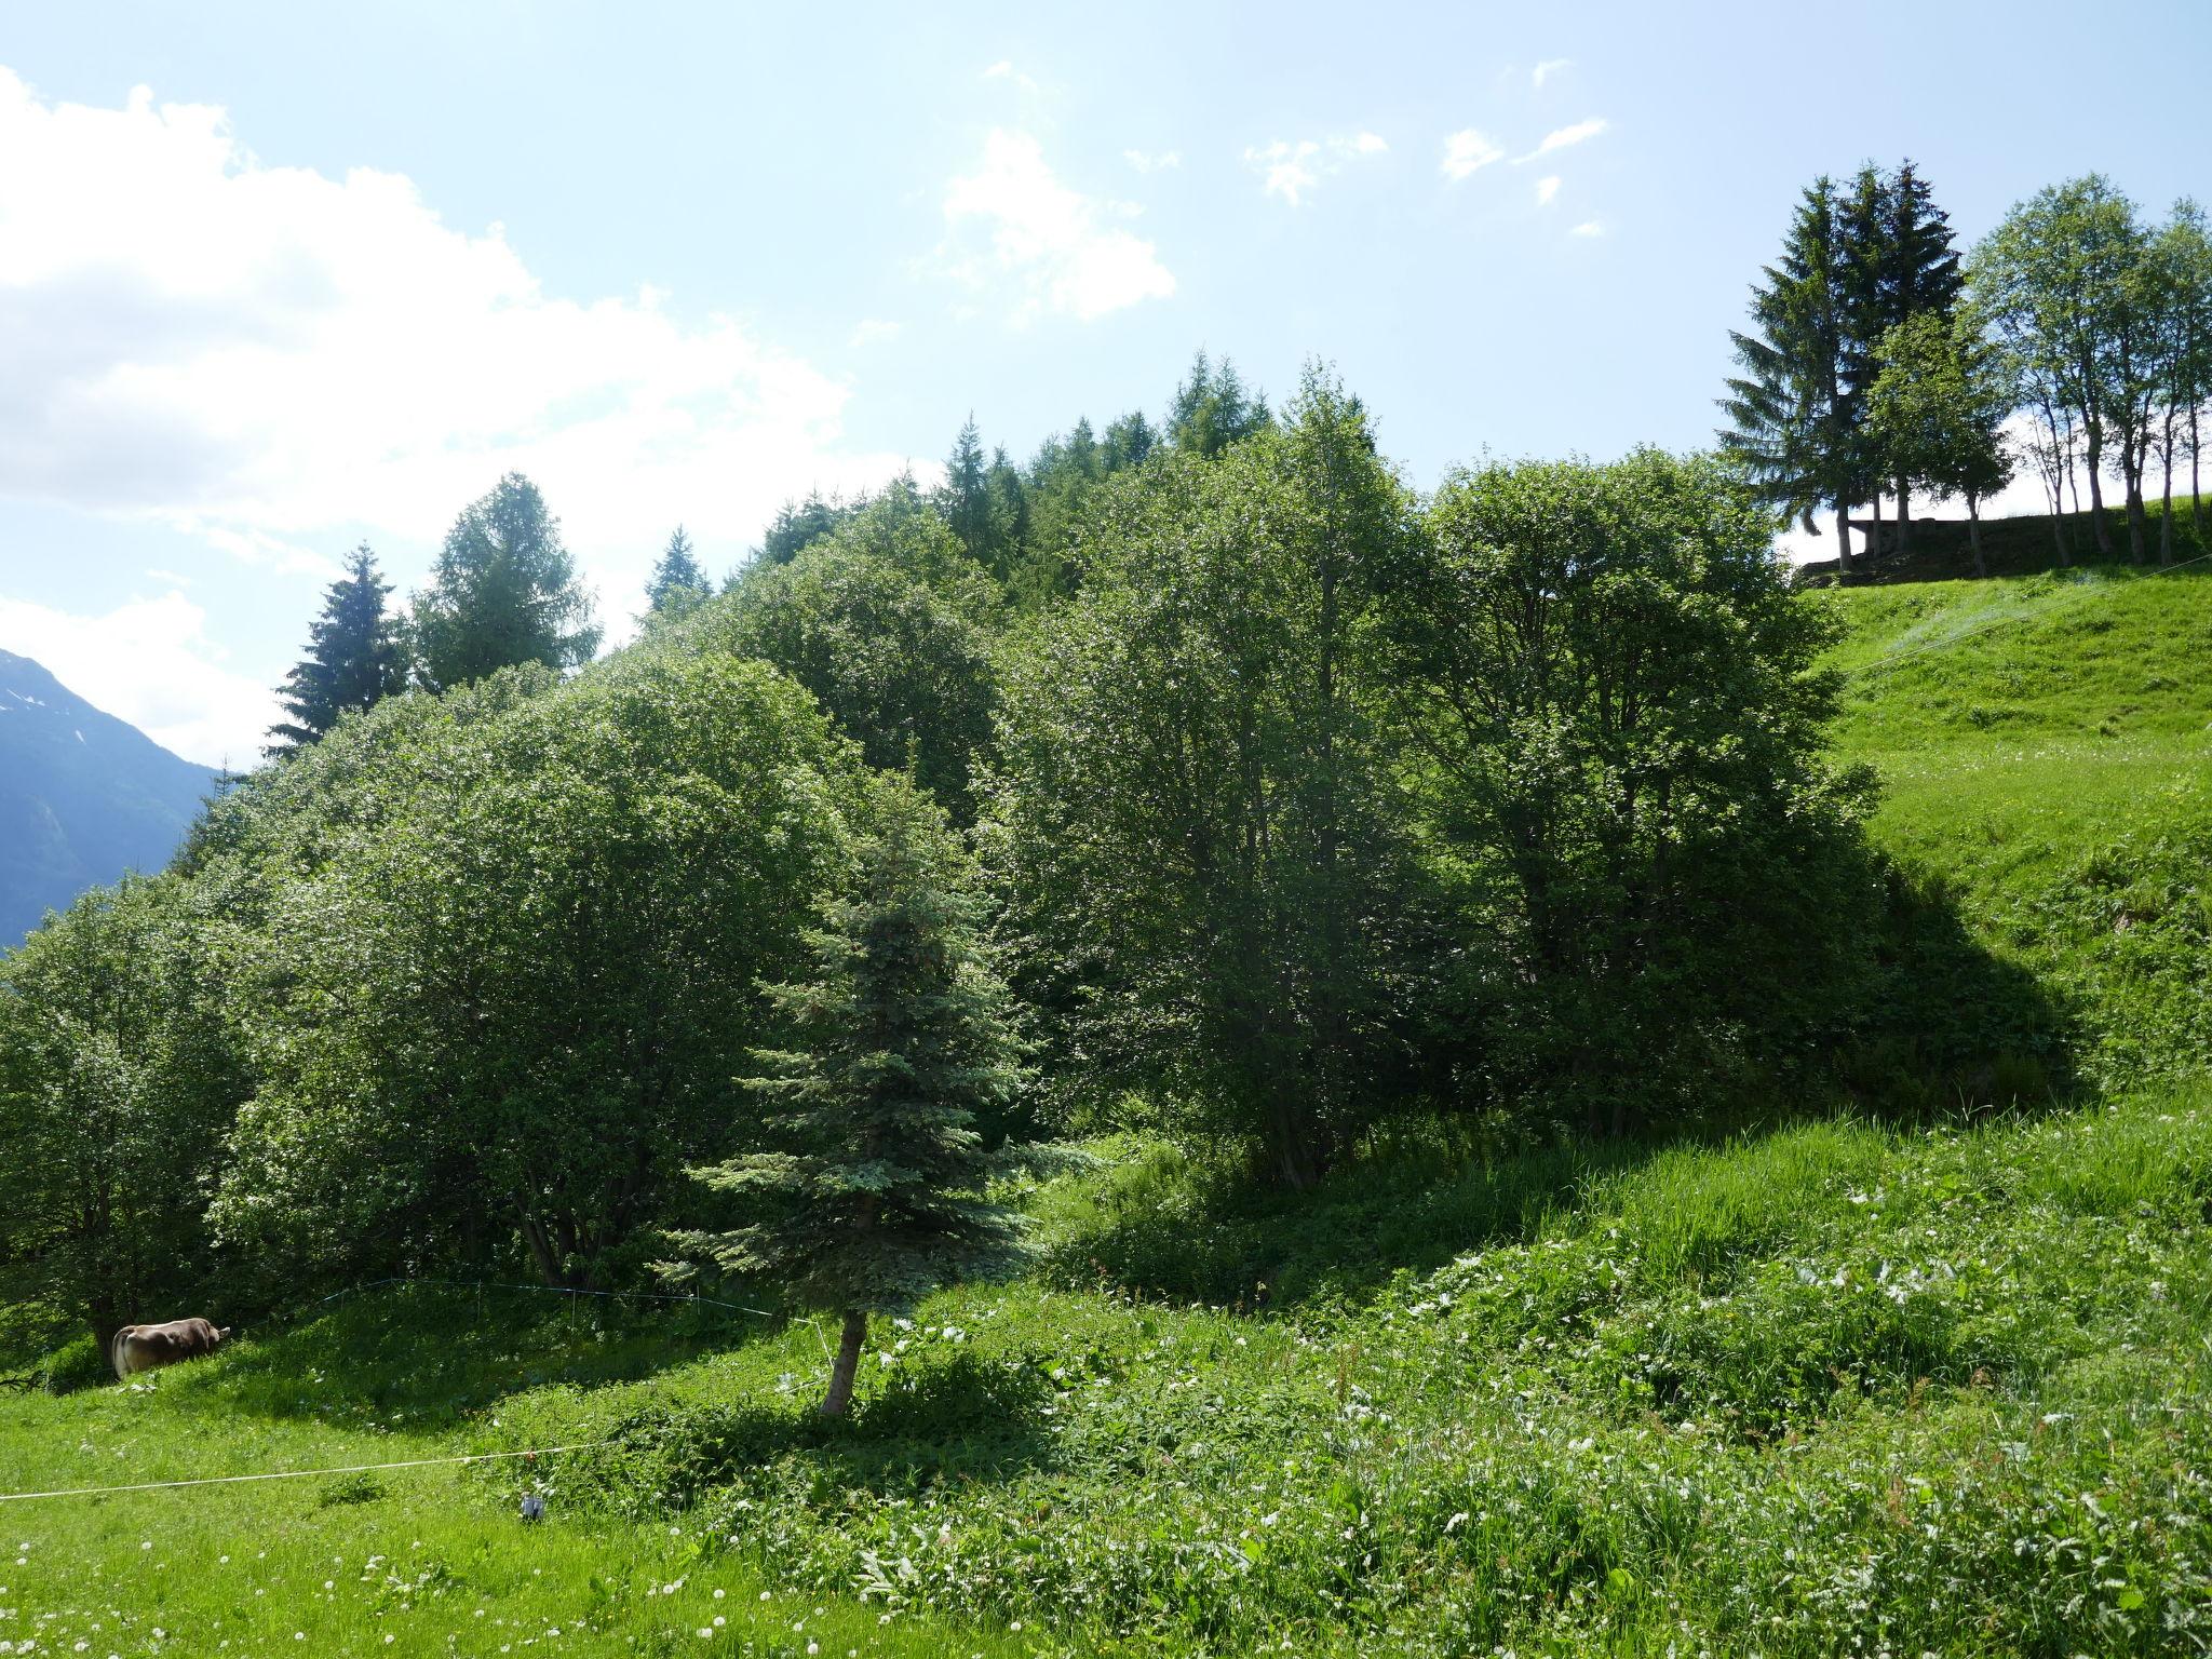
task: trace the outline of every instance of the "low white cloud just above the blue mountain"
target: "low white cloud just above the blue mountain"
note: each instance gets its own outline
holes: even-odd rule
[[[188,761],[246,770],[276,723],[276,695],[223,666],[206,622],[175,588],[100,617],[0,595],[0,648],[35,657],[88,703]]]

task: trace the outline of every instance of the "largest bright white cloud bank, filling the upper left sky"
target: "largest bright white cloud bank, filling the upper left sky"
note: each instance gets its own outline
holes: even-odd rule
[[[0,495],[321,577],[341,535],[434,542],[520,469],[617,630],[641,513],[734,553],[794,489],[905,465],[845,451],[847,385],[728,316],[557,299],[403,175],[268,166],[221,108],[49,104],[7,69],[0,363]]]

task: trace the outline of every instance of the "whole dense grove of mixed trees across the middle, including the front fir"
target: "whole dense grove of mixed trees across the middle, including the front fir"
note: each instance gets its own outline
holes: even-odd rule
[[[843,1409],[1071,1135],[1305,1188],[1832,1088],[1911,967],[1774,529],[1652,449],[1422,495],[1334,374],[1199,358],[723,584],[677,533],[586,661],[509,476],[405,613],[356,555],[168,872],[0,960],[0,1301],[737,1274],[845,1318]]]

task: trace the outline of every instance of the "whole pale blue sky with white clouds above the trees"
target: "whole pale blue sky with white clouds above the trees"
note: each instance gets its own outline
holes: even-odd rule
[[[1820,173],[2212,195],[2205,0],[0,0],[0,648],[250,763],[338,560],[684,524],[1336,367],[1418,489],[1703,445]],[[2031,504],[2028,500],[2022,502]],[[1818,544],[1814,544],[1818,551]]]

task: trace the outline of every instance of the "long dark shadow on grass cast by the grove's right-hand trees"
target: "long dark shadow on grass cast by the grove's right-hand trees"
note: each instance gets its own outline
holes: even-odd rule
[[[1880,885],[1871,949],[1832,1031],[1792,1079],[1776,1075],[1752,1097],[1732,1079],[1705,1117],[1610,1139],[1515,1139],[1451,1119],[1398,1124],[1310,1192],[1241,1179],[1230,1172],[1234,1159],[1214,1166],[1139,1144],[1053,1206],[1044,1276],[1068,1290],[1234,1312],[1358,1303],[1402,1272],[1533,1241],[1555,1221],[1613,1203],[1637,1170],[1679,1166],[1728,1141],[1834,1119],[1955,1124],[2073,1099],[2073,1013],[2033,973],[1991,953],[1942,883],[1887,863],[1869,880]],[[1714,1250],[1725,1256],[1728,1239]]]

